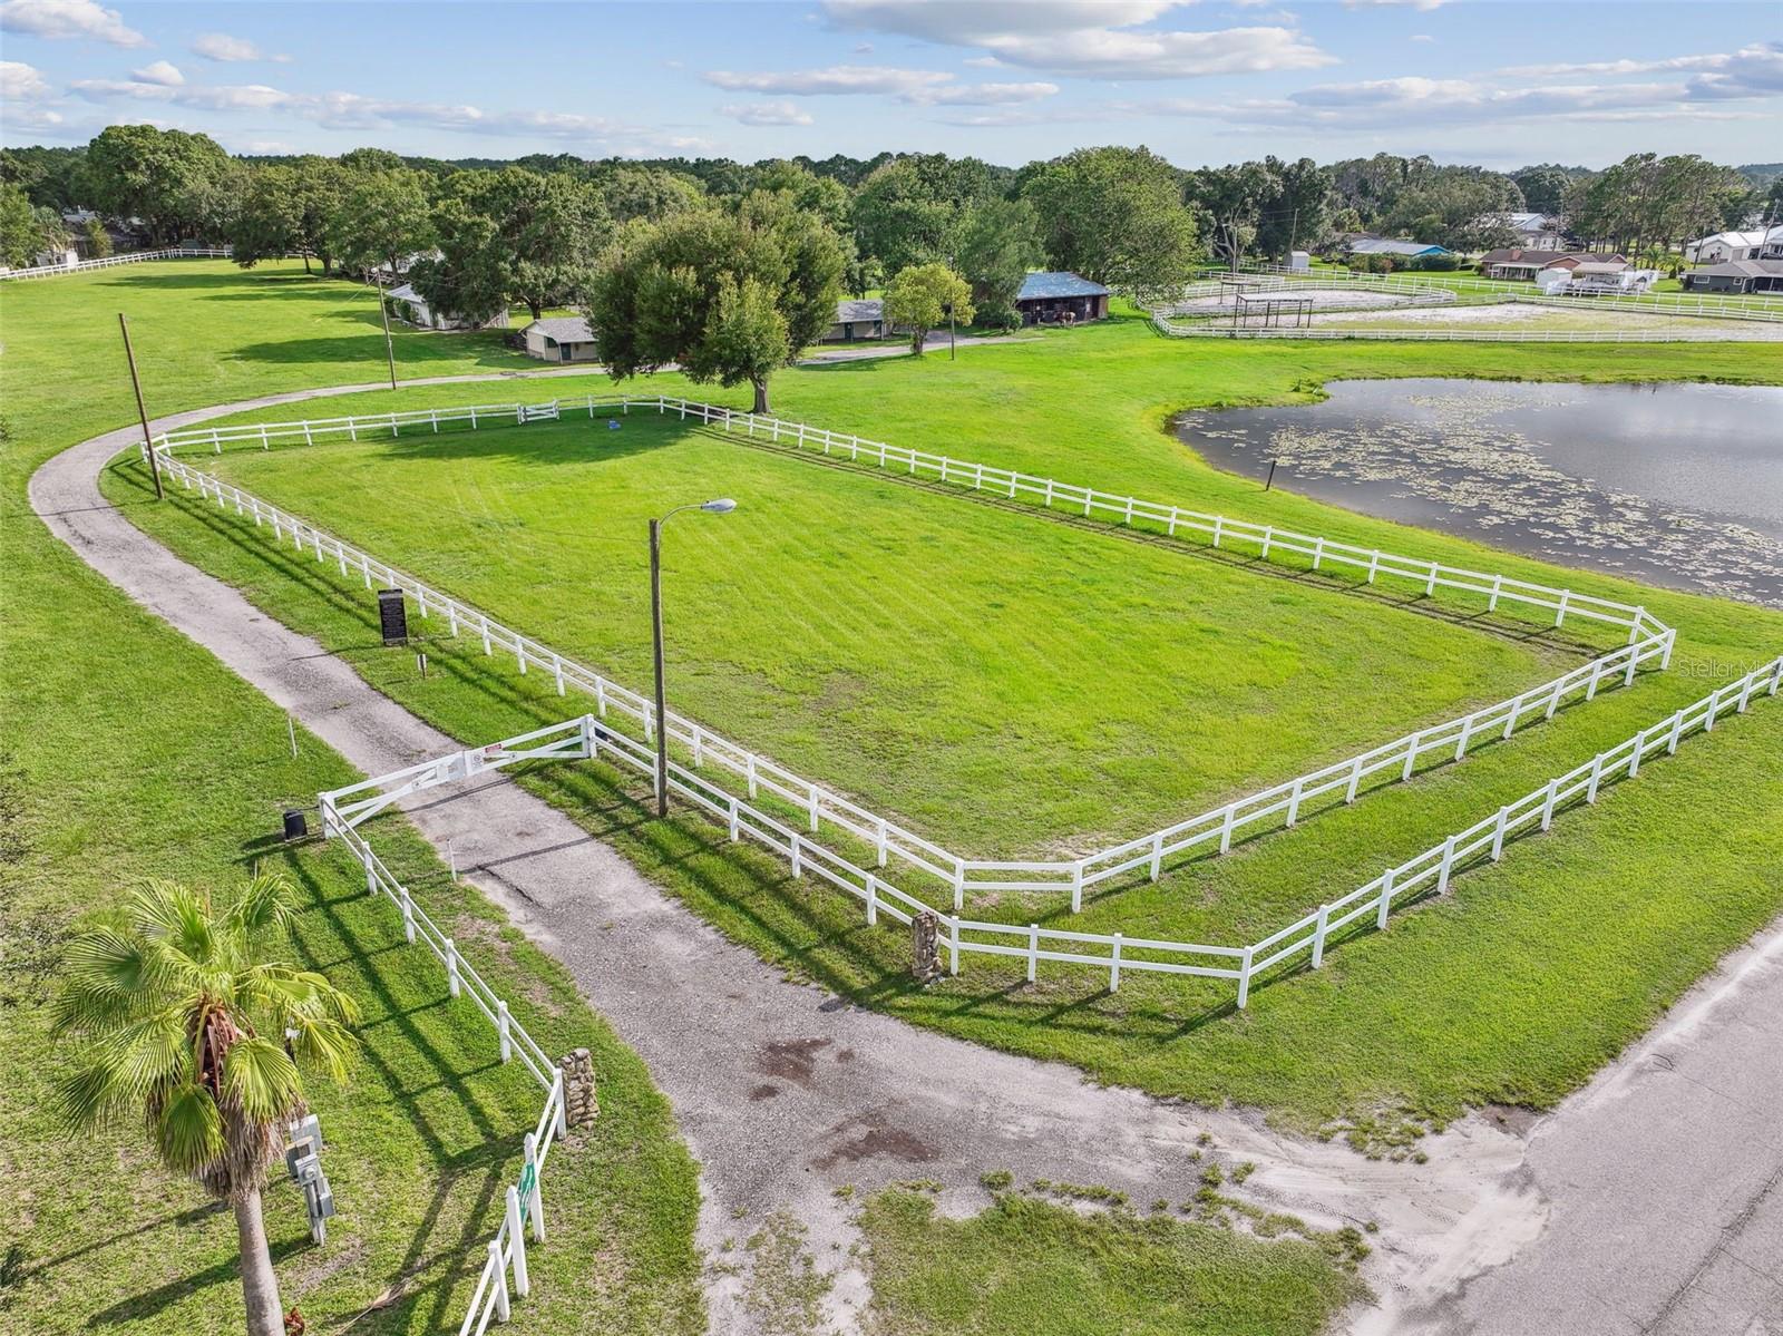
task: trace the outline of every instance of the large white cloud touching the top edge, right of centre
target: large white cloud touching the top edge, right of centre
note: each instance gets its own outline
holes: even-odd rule
[[[1100,78],[1314,70],[1334,64],[1293,27],[1138,29],[1189,0],[826,0],[834,27],[977,46],[1000,64]]]

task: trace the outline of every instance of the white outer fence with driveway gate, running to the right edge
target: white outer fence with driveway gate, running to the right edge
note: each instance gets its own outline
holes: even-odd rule
[[[1567,806],[1594,804],[1605,787],[1633,779],[1647,760],[1674,753],[1680,740],[1692,733],[1712,731],[1722,715],[1744,713],[1754,697],[1774,697],[1779,687],[1783,687],[1783,655],[1642,728],[1589,762],[1553,776],[1539,788],[1448,835],[1414,858],[1389,867],[1346,895],[1318,904],[1300,919],[1245,945],[1170,942],[1122,933],[1075,933],[1041,928],[1038,922],[1023,926],[965,919],[900,890],[879,869],[865,867],[815,844],[795,826],[715,787],[697,771],[674,760],[669,765],[669,787],[724,826],[733,842],[749,838],[785,858],[793,878],[811,874],[854,895],[861,903],[868,924],[875,924],[881,913],[900,924],[908,924],[915,913],[933,913],[945,935],[943,947],[949,953],[949,972],[952,974],[959,972],[961,956],[982,954],[1025,961],[1029,981],[1034,979],[1039,961],[1105,970],[1111,992],[1120,988],[1123,972],[1227,979],[1237,988],[1237,1006],[1246,1008],[1257,976],[1302,954],[1307,956],[1312,969],[1321,967],[1325,954],[1334,945],[1334,936],[1343,929],[1360,926],[1366,931],[1369,922],[1375,929],[1385,929],[1396,906],[1403,908],[1428,894],[1446,894],[1455,874],[1462,869],[1482,862],[1496,863],[1503,858],[1507,842],[1519,835],[1549,829],[1555,813]],[[328,813],[325,829],[351,831],[349,817],[344,815],[349,806],[358,810],[360,819],[374,810],[362,797],[353,797],[351,804],[342,806],[344,797],[387,794],[394,801],[396,796],[456,783],[465,774],[474,772],[467,769],[472,756],[489,753],[542,760],[597,760],[604,756],[642,774],[651,774],[654,765],[654,755],[647,746],[637,738],[606,733],[592,715],[581,715],[496,742],[490,747],[451,753],[424,765],[323,794],[323,810]]]

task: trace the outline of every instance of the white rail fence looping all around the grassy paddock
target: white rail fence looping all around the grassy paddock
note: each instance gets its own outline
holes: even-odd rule
[[[879,815],[852,799],[788,771],[767,756],[713,733],[692,719],[670,712],[670,742],[688,755],[695,767],[711,762],[729,771],[747,790],[749,799],[756,799],[761,790],[767,790],[797,810],[804,817],[811,835],[818,835],[827,824],[836,833],[870,845],[881,869],[895,854],[904,863],[947,885],[952,892],[956,911],[965,906],[966,892],[981,890],[1070,890],[1072,908],[1077,910],[1082,904],[1086,887],[1095,887],[1138,867],[1145,867],[1148,876],[1157,879],[1166,860],[1180,860],[1200,853],[1223,854],[1230,851],[1234,838],[1241,833],[1275,826],[1293,828],[1311,810],[1309,804],[1321,797],[1341,792],[1344,803],[1353,803],[1364,792],[1362,787],[1366,781],[1398,783],[1410,779],[1421,762],[1428,763],[1439,758],[1462,760],[1473,747],[1485,746],[1492,738],[1508,738],[1524,724],[1551,719],[1567,699],[1590,701],[1606,685],[1631,683],[1642,664],[1655,664],[1664,671],[1671,664],[1671,651],[1676,642],[1676,631],[1640,606],[1514,580],[1503,574],[1487,574],[1423,558],[1357,548],[1334,539],[1280,530],[1269,524],[1253,524],[1225,515],[1182,510],[1180,507],[1157,501],[1098,492],[1089,487],[1036,478],[984,464],[959,462],[804,423],[738,414],[729,408],[667,396],[619,403],[587,396],[581,401],[558,400],[553,405],[567,410],[587,410],[590,417],[615,408],[626,412],[631,407],[676,412],[681,417],[717,423],[729,432],[744,432],[747,437],[822,451],[829,457],[847,457],[854,462],[895,469],[906,476],[933,476],[947,483],[986,491],[1004,499],[1036,499],[1045,508],[1064,508],[1072,514],[1091,517],[1102,515],[1118,524],[1150,524],[1170,537],[1205,537],[1214,548],[1236,546],[1241,551],[1255,549],[1262,560],[1280,562],[1284,557],[1300,557],[1311,562],[1312,571],[1325,571],[1327,567],[1348,569],[1360,574],[1369,585],[1393,580],[1423,596],[1434,596],[1439,589],[1460,592],[1478,599],[1485,612],[1496,612],[1500,606],[1510,605],[1533,608],[1544,619],[1551,612],[1553,626],[1557,628],[1565,626],[1569,621],[1587,621],[1628,631],[1628,640],[1621,647],[1507,701],[1407,733],[1334,765],[1248,794],[1212,812],[1173,822],[1171,826],[1107,849],[1080,858],[1050,862],[965,858],[934,840],[906,829],[890,817]],[[514,655],[515,665],[522,674],[528,669],[547,672],[560,696],[574,687],[596,701],[596,713],[601,721],[610,721],[615,712],[637,721],[642,728],[644,742],[653,744],[656,719],[654,705],[647,696],[565,658],[560,651],[521,635],[490,619],[489,614],[325,533],[308,521],[191,467],[173,453],[185,446],[209,446],[221,451],[225,442],[248,442],[267,448],[271,441],[314,441],[323,435],[349,435],[351,439],[366,432],[399,435],[405,426],[439,430],[440,423],[453,421],[480,426],[514,426],[530,421],[526,408],[528,405],[483,405],[478,408],[442,408],[437,414],[435,410],[421,410],[310,423],[200,428],[157,437],[155,453],[162,467],[175,480],[187,489],[196,489],[200,498],[214,499],[219,508],[234,508],[242,517],[251,515],[257,526],[271,528],[275,542],[291,542],[298,551],[314,553],[317,562],[332,562],[342,576],[358,574],[366,589],[373,589],[374,585],[405,589],[415,599],[423,617],[444,617],[451,635],[467,633],[480,639],[485,655],[497,651]],[[146,449],[143,449],[143,455],[146,457]],[[612,731],[610,722],[606,722],[606,728]]]

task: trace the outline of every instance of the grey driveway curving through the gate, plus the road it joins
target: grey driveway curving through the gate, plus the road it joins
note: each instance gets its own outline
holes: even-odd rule
[[[171,416],[155,426],[168,430],[364,389],[380,387],[267,396]],[[48,460],[30,482],[32,507],[82,560],[209,647],[367,774],[481,740],[440,735],[319,644],[262,615],[130,524],[102,498],[98,474],[134,439],[134,430],[119,430],[87,441]],[[1277,1134],[1253,1113],[1195,1109],[1093,1086],[1068,1067],[991,1052],[786,983],[567,817],[503,779],[448,797],[430,794],[410,817],[435,847],[451,840],[471,879],[567,963],[590,1002],[649,1063],[703,1165],[701,1243],[708,1254],[720,1256],[726,1240],[744,1240],[770,1213],[790,1211],[811,1231],[818,1266],[834,1275],[827,1318],[838,1331],[856,1325],[867,1299],[865,1277],[850,1258],[850,1208],[834,1197],[843,1184],[872,1190],[895,1179],[933,1177],[947,1188],[945,1209],[972,1211],[986,1200],[979,1175],[1009,1168],[1018,1181],[1100,1183],[1127,1190],[1138,1202],[1184,1200],[1198,1186],[1200,1167],[1189,1152],[1205,1131],[1218,1152],[1259,1165],[1246,1195],[1318,1225],[1380,1225],[1368,1279],[1385,1306],[1352,1315],[1357,1331],[1587,1336],[1596,1327],[1503,1325],[1516,1311],[1512,1302],[1530,1293],[1524,1272],[1548,1288],[1549,1297],[1533,1309],[1544,1318],[1562,1311],[1557,1304],[1567,1295],[1582,1293],[1567,1281],[1574,1265],[1569,1249],[1580,1240],[1557,1240],[1553,1229],[1544,1234],[1544,1222],[1578,1215],[1590,1231],[1614,1222],[1621,1233],[1601,1234],[1605,1263],[1672,1290],[1697,1272],[1719,1275],[1713,1258],[1722,1254],[1713,1249],[1728,1240],[1715,1202],[1658,1229],[1649,1213],[1656,1199],[1631,1197],[1623,1188],[1635,1184],[1614,1174],[1617,1158],[1628,1154],[1623,1147],[1656,1134],[1671,1136],[1671,1149],[1687,1149],[1694,1159],[1721,1154],[1730,1165],[1756,1161],[1753,1152],[1765,1149],[1767,1172],[1783,1165],[1774,1118],[1765,1143],[1751,1126],[1724,1129],[1712,1117],[1719,1101],[1749,1109],[1776,1106],[1783,1043],[1772,1031],[1769,1054],[1740,1047],[1763,1049],[1754,1013],[1771,1015],[1772,1026],[1783,1015],[1783,967],[1776,963],[1783,947],[1763,956],[1763,969],[1712,979],[1678,1013],[1680,1020],[1649,1040],[1671,1042],[1665,1036],[1676,1033],[1678,1060],[1689,1040],[1696,1054],[1690,1061],[1717,1072],[1719,1093],[1685,1081],[1653,1083],[1637,1052],[1537,1124],[1528,1147],[1516,1131],[1469,1118],[1426,1142],[1426,1165],[1385,1165],[1337,1145]],[[1765,1004],[1767,1013],[1760,1011]],[[1717,1056],[1722,1047],[1731,1049],[1730,1056]],[[1619,1093],[1605,1095],[1606,1084]],[[1699,1108],[1690,1108],[1690,1099]],[[1655,1111],[1685,1118],[1683,1129],[1665,1133],[1676,1124],[1655,1122]],[[1678,1192],[1692,1172],[1683,1156],[1678,1159],[1644,1168],[1665,1170],[1667,1190]],[[1612,1172],[1592,1175],[1594,1165]],[[1742,1170],[1738,1177],[1751,1174]],[[1765,1208],[1758,1200],[1726,1256],[1762,1238],[1758,1231],[1774,1231],[1776,1216],[1774,1202]],[[715,1331],[751,1329],[740,1302],[747,1282],[747,1274],[710,1274]],[[1496,1299],[1501,1291],[1512,1299]],[[1722,1329],[1697,1324],[1690,1331]]]

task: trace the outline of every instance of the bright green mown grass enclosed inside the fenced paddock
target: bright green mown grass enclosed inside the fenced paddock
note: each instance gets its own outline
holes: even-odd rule
[[[667,532],[676,708],[966,856],[1136,837],[1583,660],[672,416],[606,421],[193,460],[640,692],[645,523],[735,498]]]

